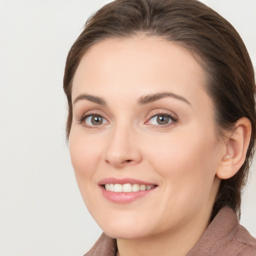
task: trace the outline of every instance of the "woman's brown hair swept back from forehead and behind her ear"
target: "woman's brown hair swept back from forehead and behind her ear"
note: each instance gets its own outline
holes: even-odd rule
[[[222,206],[228,205],[239,217],[241,191],[246,183],[256,136],[254,72],[246,47],[233,26],[197,0],[115,0],[89,17],[65,65],[67,139],[72,124],[72,80],[82,55],[100,40],[141,33],[174,41],[197,57],[207,75],[206,90],[214,102],[219,130],[231,128],[240,117],[251,121],[246,159],[233,177],[221,180],[211,215],[213,218]]]

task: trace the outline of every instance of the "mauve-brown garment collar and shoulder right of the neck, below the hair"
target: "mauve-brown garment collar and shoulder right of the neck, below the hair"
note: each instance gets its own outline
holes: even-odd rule
[[[239,224],[235,212],[222,208],[187,256],[256,256],[256,239]]]

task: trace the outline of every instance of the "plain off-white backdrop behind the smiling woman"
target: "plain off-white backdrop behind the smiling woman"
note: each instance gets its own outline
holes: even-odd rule
[[[101,233],[70,164],[62,76],[85,20],[107,2],[0,0],[0,256],[80,256]],[[203,2],[238,30],[255,66],[256,0]],[[241,223],[256,237],[251,170]]]

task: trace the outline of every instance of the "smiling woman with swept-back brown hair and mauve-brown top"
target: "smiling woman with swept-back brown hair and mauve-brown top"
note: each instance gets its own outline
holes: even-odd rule
[[[67,138],[104,233],[85,255],[255,255],[239,225],[255,82],[235,29],[196,0],[116,0],[65,67]]]

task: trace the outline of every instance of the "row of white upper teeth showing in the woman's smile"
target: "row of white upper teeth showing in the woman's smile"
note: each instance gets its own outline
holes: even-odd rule
[[[126,184],[105,184],[105,189],[107,191],[112,191],[112,192],[137,192],[137,191],[144,191],[144,190],[149,190],[151,188],[154,188],[154,185],[139,185],[139,184],[131,184],[131,183],[126,183]]]

